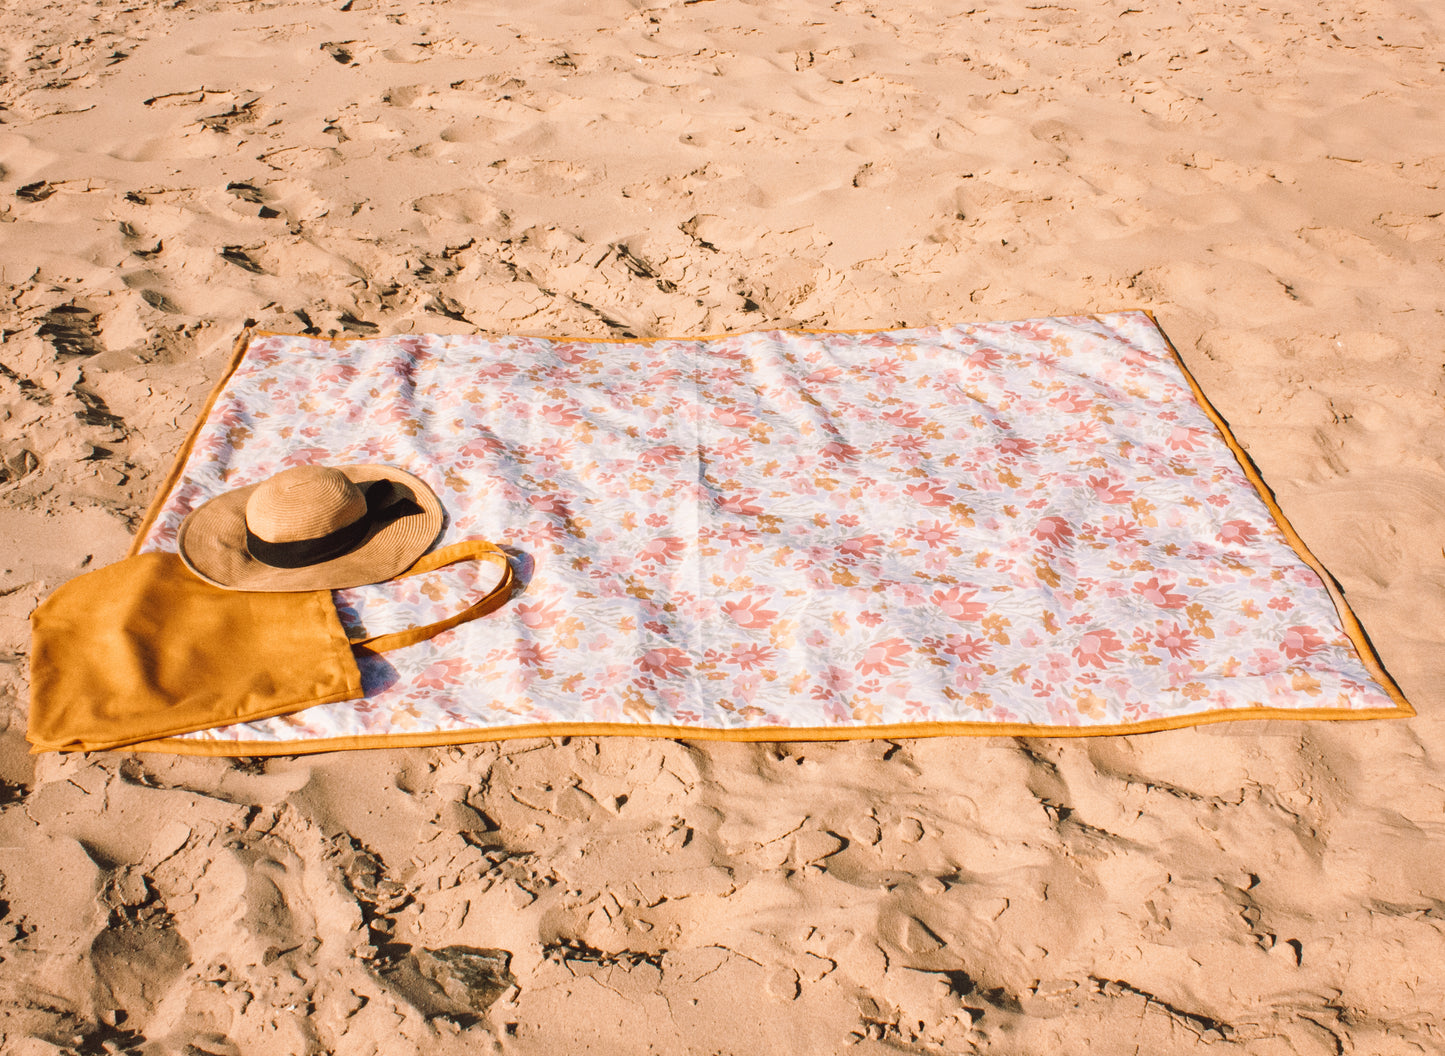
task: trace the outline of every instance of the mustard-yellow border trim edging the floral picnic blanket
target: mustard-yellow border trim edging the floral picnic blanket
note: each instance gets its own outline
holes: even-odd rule
[[[1165,339],[1165,345],[1169,348],[1169,354],[1173,357],[1175,364],[1183,374],[1185,381],[1189,384],[1189,390],[1194,393],[1195,402],[1204,410],[1205,416],[1214,423],[1214,428],[1220,432],[1234,459],[1240,464],[1246,478],[1254,485],[1259,497],[1264,501],[1266,508],[1279,524],[1280,532],[1285,533],[1285,539],[1293,548],[1295,553],[1299,555],[1300,561],[1309,565],[1315,574],[1325,582],[1329,591],[1329,598],[1335,605],[1337,613],[1344,624],[1345,634],[1355,646],[1355,652],[1360,654],[1361,663],[1370,675],[1380,683],[1392,701],[1396,702],[1394,708],[1368,708],[1360,711],[1347,711],[1340,708],[1231,708],[1224,711],[1205,711],[1195,712],[1191,715],[1178,715],[1172,718],[1157,718],[1144,722],[1124,722],[1117,725],[1091,725],[1091,727],[1045,727],[1033,725],[1027,722],[905,722],[896,725],[870,725],[870,727],[749,727],[746,730],[718,730],[718,728],[699,728],[699,727],[672,727],[672,725],[634,725],[629,722],[535,722],[523,725],[507,725],[507,727],[487,727],[477,730],[435,730],[416,734],[366,734],[354,737],[329,737],[311,741],[201,741],[201,740],[182,740],[176,737],[168,737],[155,741],[142,741],[139,744],[130,744],[124,748],[117,748],[117,751],[163,751],[176,756],[311,756],[322,751],[345,751],[353,748],[426,748],[439,747],[447,744],[478,744],[486,741],[506,741],[506,740],[520,740],[529,737],[665,737],[682,741],[867,741],[867,740],[892,740],[900,737],[1111,737],[1118,734],[1152,734],[1162,730],[1183,730],[1186,727],[1198,725],[1212,725],[1215,722],[1240,722],[1247,719],[1289,719],[1295,722],[1305,721],[1335,721],[1347,722],[1354,719],[1381,719],[1381,718],[1413,718],[1416,715],[1415,708],[1409,701],[1405,699],[1405,693],[1400,692],[1399,685],[1396,685],[1394,678],[1384,669],[1380,662],[1380,654],[1374,649],[1374,643],[1370,641],[1370,636],[1366,634],[1364,627],[1355,617],[1354,610],[1350,608],[1350,602],[1344,597],[1344,588],[1334,575],[1327,569],[1319,559],[1311,552],[1300,539],[1299,533],[1295,532],[1295,526],[1289,523],[1289,517],[1280,508],[1279,503],[1274,500],[1274,493],[1264,482],[1264,477],[1260,474],[1259,468],[1254,465],[1254,459],[1250,458],[1248,452],[1240,445],[1234,438],[1234,432],[1230,429],[1230,423],[1224,416],[1215,409],[1209,402],[1209,397],[1204,394],[1199,383],[1195,380],[1189,367],[1185,364],[1183,357],[1179,355],[1179,350],[1175,348],[1173,341],[1165,332],[1165,328],[1159,325],[1159,319],[1147,308],[1121,308],[1118,312],[1142,312],[1149,316],[1149,321],[1155,324],[1155,329]],[[1116,312],[1110,312],[1113,315]],[[1084,318],[1098,319],[1097,312],[1082,313]],[[863,329],[786,329],[783,332],[789,334],[879,334],[879,332],[893,332],[899,329],[919,329],[918,326],[893,326],[886,329],[863,328]],[[753,331],[757,332],[757,331]],[[767,332],[767,331],[762,331]],[[136,529],[134,542],[130,545],[130,553],[139,552],[142,540],[150,530],[156,517],[160,514],[160,508],[165,506],[166,498],[169,498],[172,488],[175,488],[176,481],[185,469],[186,459],[191,456],[191,449],[195,446],[197,438],[201,435],[201,429],[205,428],[207,419],[211,416],[212,407],[215,407],[217,400],[221,399],[221,391],[225,389],[231,376],[241,365],[246,358],[246,352],[250,348],[250,342],[256,337],[308,337],[305,334],[283,334],[280,331],[259,331],[259,329],[244,329],[241,335],[236,339],[236,345],[231,350],[231,360],[225,367],[221,378],[215,383],[211,390],[205,406],[201,409],[195,425],[186,435],[185,442],[181,445],[181,451],[176,454],[175,462],[171,465],[171,471],[166,474],[156,497],[152,500],[150,506],[146,508],[144,516],[140,520],[140,526]],[[546,341],[575,341],[587,344],[643,344],[656,341],[709,341],[722,337],[734,337],[728,334],[711,334],[704,337],[682,337],[682,338],[542,338]],[[312,338],[312,339],[327,339],[332,345],[347,345],[355,341],[370,341],[374,338]]]

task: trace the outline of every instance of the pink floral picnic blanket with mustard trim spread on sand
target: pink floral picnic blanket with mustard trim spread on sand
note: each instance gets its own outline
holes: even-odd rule
[[[144,747],[1413,714],[1144,312],[698,339],[249,335],[137,552],[303,462],[416,474],[447,507],[438,545],[501,545],[525,589],[363,657],[364,699]],[[337,601],[376,634],[491,575]]]

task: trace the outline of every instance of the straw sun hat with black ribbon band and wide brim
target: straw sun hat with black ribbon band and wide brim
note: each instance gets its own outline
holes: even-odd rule
[[[400,575],[436,540],[442,504],[390,465],[298,465],[181,521],[198,576],[233,591],[321,591]]]

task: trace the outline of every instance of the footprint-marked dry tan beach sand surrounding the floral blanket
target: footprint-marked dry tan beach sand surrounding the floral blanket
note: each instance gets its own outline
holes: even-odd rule
[[[1423,0],[6,6],[0,1050],[1445,1052],[1442,40]],[[1136,306],[1419,718],[26,756],[29,611],[121,556],[246,324]]]

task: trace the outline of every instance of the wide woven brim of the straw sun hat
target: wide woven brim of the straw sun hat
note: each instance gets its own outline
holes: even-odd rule
[[[371,527],[351,550],[302,568],[276,568],[246,549],[246,500],[260,484],[234,488],[198,506],[181,521],[176,548],[192,572],[231,591],[340,591],[392,579],[431,549],[445,516],[441,500],[426,484],[390,465],[338,465],[353,482],[366,487],[387,480],[410,493],[416,510]]]

